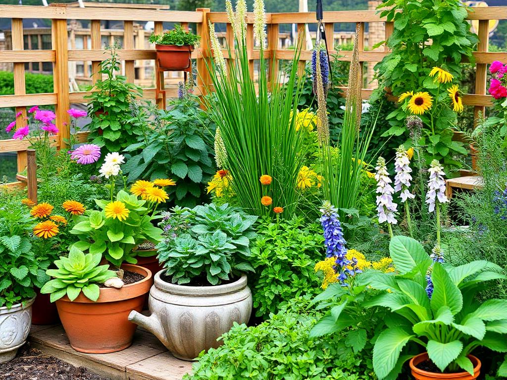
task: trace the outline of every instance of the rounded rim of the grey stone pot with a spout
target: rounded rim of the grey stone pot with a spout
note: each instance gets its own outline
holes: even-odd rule
[[[246,275],[242,274],[241,277],[230,284],[211,285],[211,286],[186,286],[177,285],[165,282],[160,278],[165,269],[157,272],[155,275],[155,287],[165,293],[185,295],[190,297],[202,297],[210,295],[224,295],[235,293],[239,290],[246,288]]]

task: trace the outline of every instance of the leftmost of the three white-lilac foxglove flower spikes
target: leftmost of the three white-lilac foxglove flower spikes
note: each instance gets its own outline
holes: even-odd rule
[[[396,224],[397,220],[394,217],[394,212],[397,210],[397,205],[392,202],[392,195],[394,189],[390,185],[391,178],[385,166],[385,160],[379,157],[377,160],[377,166],[375,167],[377,173],[375,179],[377,180],[377,213],[379,216],[379,223],[388,222],[390,224]]]

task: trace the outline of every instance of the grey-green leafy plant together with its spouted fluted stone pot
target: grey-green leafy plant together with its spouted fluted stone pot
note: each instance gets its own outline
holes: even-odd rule
[[[234,322],[247,323],[252,296],[245,271],[253,271],[250,239],[257,216],[228,204],[175,208],[160,226],[164,241],[157,248],[164,270],[150,292],[151,316],[136,311],[134,323],[153,332],[171,353],[193,360]]]

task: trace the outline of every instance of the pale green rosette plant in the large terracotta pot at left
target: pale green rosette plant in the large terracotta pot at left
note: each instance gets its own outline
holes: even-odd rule
[[[71,247],[68,257],[62,256],[55,260],[58,269],[48,269],[46,274],[54,277],[41,289],[42,294],[50,294],[51,302],[64,295],[74,301],[83,294],[96,301],[100,295],[97,284],[103,284],[106,280],[116,277],[116,272],[108,270],[109,265],[99,265],[102,254],[84,254],[76,247]]]

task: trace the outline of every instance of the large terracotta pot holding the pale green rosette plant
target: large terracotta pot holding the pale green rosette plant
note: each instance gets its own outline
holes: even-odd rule
[[[74,301],[64,296],[56,301],[70,346],[79,352],[105,354],[132,344],[136,325],[129,322],[132,310],[140,312],[150,290],[152,273],[142,267],[123,264],[125,271],[140,273],[139,282],[117,288],[100,288],[97,302],[80,294]]]

